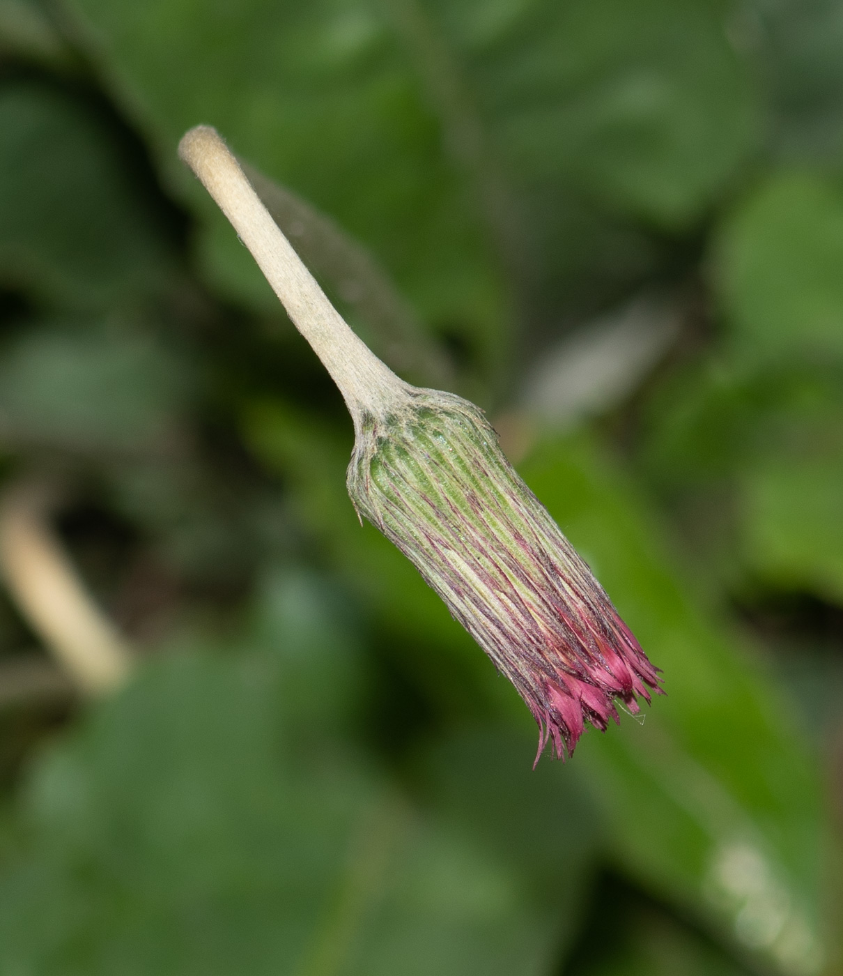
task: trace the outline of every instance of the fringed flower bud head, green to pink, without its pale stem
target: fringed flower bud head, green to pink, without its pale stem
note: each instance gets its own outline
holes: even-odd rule
[[[659,690],[656,669],[547,509],[502,454],[482,411],[411,389],[364,419],[348,467],[358,513],[416,565],[515,685],[557,756],[615,699]]]

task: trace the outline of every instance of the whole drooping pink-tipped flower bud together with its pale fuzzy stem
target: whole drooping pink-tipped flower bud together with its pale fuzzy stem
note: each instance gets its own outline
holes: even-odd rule
[[[351,332],[217,133],[181,141],[301,334],[340,387],[355,430],[348,494],[416,565],[512,682],[563,758],[659,691],[656,669],[605,591],[502,454],[482,411],[410,386]]]

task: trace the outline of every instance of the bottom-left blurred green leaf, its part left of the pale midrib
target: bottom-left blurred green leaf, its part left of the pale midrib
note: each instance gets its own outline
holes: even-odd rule
[[[2,968],[290,971],[367,787],[291,768],[264,679],[162,661],[40,764],[25,811],[37,843],[0,894]]]

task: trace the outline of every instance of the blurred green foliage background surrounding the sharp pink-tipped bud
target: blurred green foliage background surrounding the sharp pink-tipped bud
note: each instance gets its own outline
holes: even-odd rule
[[[86,695],[7,553],[0,973],[839,971],[841,52],[840,0],[0,0],[0,490],[132,647]],[[199,122],[489,412],[646,722],[531,771]]]

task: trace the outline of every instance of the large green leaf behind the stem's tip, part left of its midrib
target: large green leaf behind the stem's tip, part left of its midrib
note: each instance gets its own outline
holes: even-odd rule
[[[202,215],[198,246],[215,288],[277,313],[251,257],[176,159],[181,135],[200,121],[360,238],[425,318],[457,323],[481,355],[497,355],[494,258],[377,9],[355,0],[76,7],[165,172]]]

